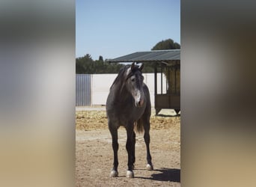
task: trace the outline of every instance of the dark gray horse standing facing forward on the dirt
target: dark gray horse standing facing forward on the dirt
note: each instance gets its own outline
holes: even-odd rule
[[[144,84],[141,75],[143,64],[140,67],[132,63],[118,73],[113,82],[106,102],[106,113],[109,131],[112,135],[112,148],[114,151],[114,167],[110,177],[118,177],[118,128],[124,126],[127,130],[128,170],[127,177],[133,178],[135,162],[135,132],[143,132],[147,147],[147,169],[153,170],[150,156],[150,93]]]

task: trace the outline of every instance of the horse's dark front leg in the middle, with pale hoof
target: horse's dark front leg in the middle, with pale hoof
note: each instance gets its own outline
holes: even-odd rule
[[[135,162],[135,133],[133,132],[133,125],[128,126],[127,128],[127,153],[128,153],[128,170],[127,177],[133,178],[134,173],[134,162]]]

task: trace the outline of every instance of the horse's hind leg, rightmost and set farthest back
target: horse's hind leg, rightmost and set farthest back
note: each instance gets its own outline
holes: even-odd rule
[[[153,170],[153,165],[151,162],[151,155],[150,155],[150,122],[149,120],[144,123],[144,141],[147,147],[147,170]]]

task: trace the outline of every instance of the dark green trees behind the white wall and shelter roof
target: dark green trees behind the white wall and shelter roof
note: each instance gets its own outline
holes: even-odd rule
[[[162,40],[156,43],[151,50],[162,49],[180,49],[180,44],[175,43],[174,40]],[[109,63],[99,56],[98,60],[93,60],[90,54],[83,57],[76,58],[76,74],[96,74],[96,73],[118,73],[124,64]],[[153,73],[154,63],[144,63],[143,73]]]

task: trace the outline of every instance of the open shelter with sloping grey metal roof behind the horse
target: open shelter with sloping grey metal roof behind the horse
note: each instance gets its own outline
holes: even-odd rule
[[[180,111],[180,49],[134,52],[129,55],[111,59],[109,62],[153,62],[155,64],[156,114],[158,114],[162,108],[174,109],[176,113]],[[160,73],[160,78],[157,76],[158,73]],[[163,76],[165,76],[166,82],[162,82]],[[157,90],[157,79],[161,79],[161,89],[159,90]],[[166,85],[163,86],[164,84]]]

